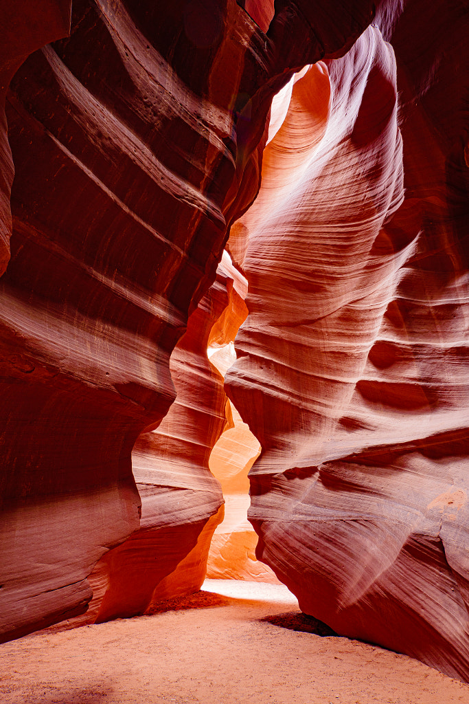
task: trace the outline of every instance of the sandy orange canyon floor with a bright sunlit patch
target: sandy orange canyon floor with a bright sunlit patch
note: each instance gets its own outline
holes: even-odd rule
[[[171,607],[5,643],[1,703],[469,704],[468,684],[327,635],[284,586],[207,580]]]

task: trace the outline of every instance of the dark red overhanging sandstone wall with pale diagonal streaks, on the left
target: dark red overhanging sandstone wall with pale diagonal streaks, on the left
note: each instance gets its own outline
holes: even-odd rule
[[[63,20],[67,7],[51,13]],[[169,356],[256,194],[271,96],[293,69],[346,51],[372,17],[351,0],[281,2],[273,19],[271,4],[246,8],[75,0],[70,38],[11,84],[3,638],[86,609],[97,560],[139,528],[131,448],[174,400]],[[40,33],[25,52],[18,31],[16,54],[59,36]],[[1,154],[5,241],[5,142]]]

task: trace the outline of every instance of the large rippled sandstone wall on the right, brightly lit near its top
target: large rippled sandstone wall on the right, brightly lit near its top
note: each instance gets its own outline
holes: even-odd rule
[[[266,147],[226,388],[263,448],[259,558],[340,634],[467,680],[468,8],[375,25]]]

